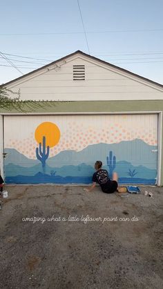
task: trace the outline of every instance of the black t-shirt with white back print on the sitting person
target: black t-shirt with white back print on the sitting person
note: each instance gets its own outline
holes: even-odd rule
[[[111,185],[111,179],[108,177],[107,170],[103,170],[102,168],[97,170],[93,174],[93,182],[99,183],[103,191],[107,190]]]

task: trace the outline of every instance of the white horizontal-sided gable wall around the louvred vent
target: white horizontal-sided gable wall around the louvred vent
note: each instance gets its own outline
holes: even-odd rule
[[[73,81],[73,65],[84,65],[86,80]],[[69,57],[6,86],[21,99],[114,101],[163,99],[163,88],[88,57]],[[12,94],[11,94],[12,96]]]

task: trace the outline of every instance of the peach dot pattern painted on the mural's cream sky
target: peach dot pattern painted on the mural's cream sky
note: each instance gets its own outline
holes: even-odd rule
[[[142,141],[152,146],[157,146],[157,131],[150,129],[154,127],[151,119],[150,125],[142,126],[140,121],[130,121],[125,115],[119,117],[111,116],[104,120],[100,119],[100,116],[91,116],[93,121],[84,119],[82,116],[78,117],[78,121],[63,121],[62,123],[56,123],[60,130],[59,143],[56,146],[50,148],[49,157],[59,154],[63,150],[83,150],[89,145],[97,143],[119,143],[121,141],[132,141],[134,139],[142,139]],[[70,119],[73,119],[71,116]],[[65,125],[66,123],[66,125]],[[36,127],[35,127],[36,128]],[[33,132],[28,134],[28,137],[24,139],[8,139],[6,140],[6,148],[15,148],[19,152],[26,155],[30,159],[36,159],[35,150],[38,147],[38,143],[35,140],[35,128]],[[16,128],[15,128],[16,130]],[[17,133],[15,132],[15,136]]]

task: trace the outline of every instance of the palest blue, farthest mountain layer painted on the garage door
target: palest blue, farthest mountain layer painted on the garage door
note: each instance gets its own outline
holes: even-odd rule
[[[113,155],[116,156],[118,161],[127,161],[132,166],[144,166],[149,169],[157,169],[157,153],[152,152],[156,150],[157,146],[150,146],[141,139],[135,139],[133,141],[121,141],[119,143],[97,143],[90,145],[84,150],[79,152],[75,150],[64,150],[50,157],[46,161],[46,165],[50,168],[61,168],[62,166],[78,166],[81,163],[85,163],[87,166],[94,167],[95,161],[101,160],[106,166],[106,156],[110,150],[113,151]],[[39,165],[40,162],[37,159],[28,159],[23,154],[12,148],[6,148],[5,152],[8,153],[5,159],[5,165],[9,163],[15,164],[21,167],[32,167]]]

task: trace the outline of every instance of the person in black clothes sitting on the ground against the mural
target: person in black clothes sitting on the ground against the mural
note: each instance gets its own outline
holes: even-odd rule
[[[93,174],[93,184],[90,188],[86,188],[86,192],[90,192],[95,188],[96,183],[99,183],[99,186],[102,188],[102,192],[106,192],[108,194],[113,193],[117,190],[117,172],[113,172],[112,180],[108,176],[108,171],[102,169],[102,161],[95,162],[95,170],[97,170]]]

